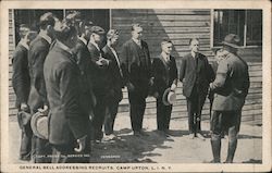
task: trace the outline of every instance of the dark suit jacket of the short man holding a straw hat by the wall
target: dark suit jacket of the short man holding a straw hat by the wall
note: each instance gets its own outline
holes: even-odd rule
[[[152,74],[154,77],[153,91],[158,91],[159,95],[163,95],[166,88],[177,82],[175,58],[170,55],[170,62],[166,62],[162,55],[153,59]]]

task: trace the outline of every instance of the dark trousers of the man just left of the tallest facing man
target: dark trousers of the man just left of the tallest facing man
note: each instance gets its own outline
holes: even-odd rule
[[[104,119],[104,134],[110,135],[113,134],[114,121],[118,114],[119,101],[112,101],[107,107],[107,113]]]

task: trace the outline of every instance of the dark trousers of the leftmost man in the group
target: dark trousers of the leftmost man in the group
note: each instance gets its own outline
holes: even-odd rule
[[[21,133],[20,158],[30,160],[33,132],[30,122],[23,126]]]

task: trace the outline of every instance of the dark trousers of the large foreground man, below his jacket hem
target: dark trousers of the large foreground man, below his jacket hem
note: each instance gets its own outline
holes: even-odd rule
[[[69,145],[52,145],[52,163],[89,163],[90,140],[86,139],[85,149],[82,152],[74,151],[76,143]]]

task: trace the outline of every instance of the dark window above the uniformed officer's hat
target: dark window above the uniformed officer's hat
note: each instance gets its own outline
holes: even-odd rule
[[[262,11],[214,10],[213,46],[222,46],[224,37],[231,33],[240,37],[239,46],[261,46]]]

